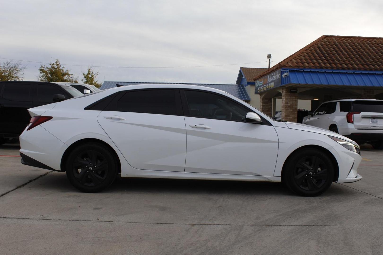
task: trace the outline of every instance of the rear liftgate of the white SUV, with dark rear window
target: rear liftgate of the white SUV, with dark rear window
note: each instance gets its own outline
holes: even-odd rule
[[[354,128],[359,130],[383,130],[383,101],[356,100],[352,102]]]

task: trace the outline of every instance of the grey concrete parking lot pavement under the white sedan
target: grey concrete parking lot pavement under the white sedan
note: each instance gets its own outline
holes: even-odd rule
[[[381,254],[381,156],[364,149],[363,179],[319,197],[276,183],[165,179],[80,193],[49,172],[0,198],[0,254]],[[16,162],[0,162],[2,183],[11,167],[20,180],[41,175]]]

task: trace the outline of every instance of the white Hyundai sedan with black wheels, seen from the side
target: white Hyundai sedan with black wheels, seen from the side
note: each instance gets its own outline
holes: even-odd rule
[[[304,196],[355,182],[359,146],[337,133],[277,122],[218,89],[145,84],[29,109],[23,164],[66,172],[98,192],[121,177],[284,182]]]

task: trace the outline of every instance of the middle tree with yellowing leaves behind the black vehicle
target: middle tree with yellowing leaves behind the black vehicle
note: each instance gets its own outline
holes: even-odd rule
[[[61,67],[60,60],[57,58],[54,63],[50,63],[49,66],[41,65],[39,68],[40,75],[39,81],[50,82],[77,82],[78,77],[74,77],[70,70],[65,70],[65,67]]]

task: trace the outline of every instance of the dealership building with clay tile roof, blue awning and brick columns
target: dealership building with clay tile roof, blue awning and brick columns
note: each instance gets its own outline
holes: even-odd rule
[[[259,95],[259,109],[272,116],[282,99],[282,120],[293,122],[299,100],[315,110],[334,99],[383,99],[383,38],[321,36],[253,81],[247,90]]]

